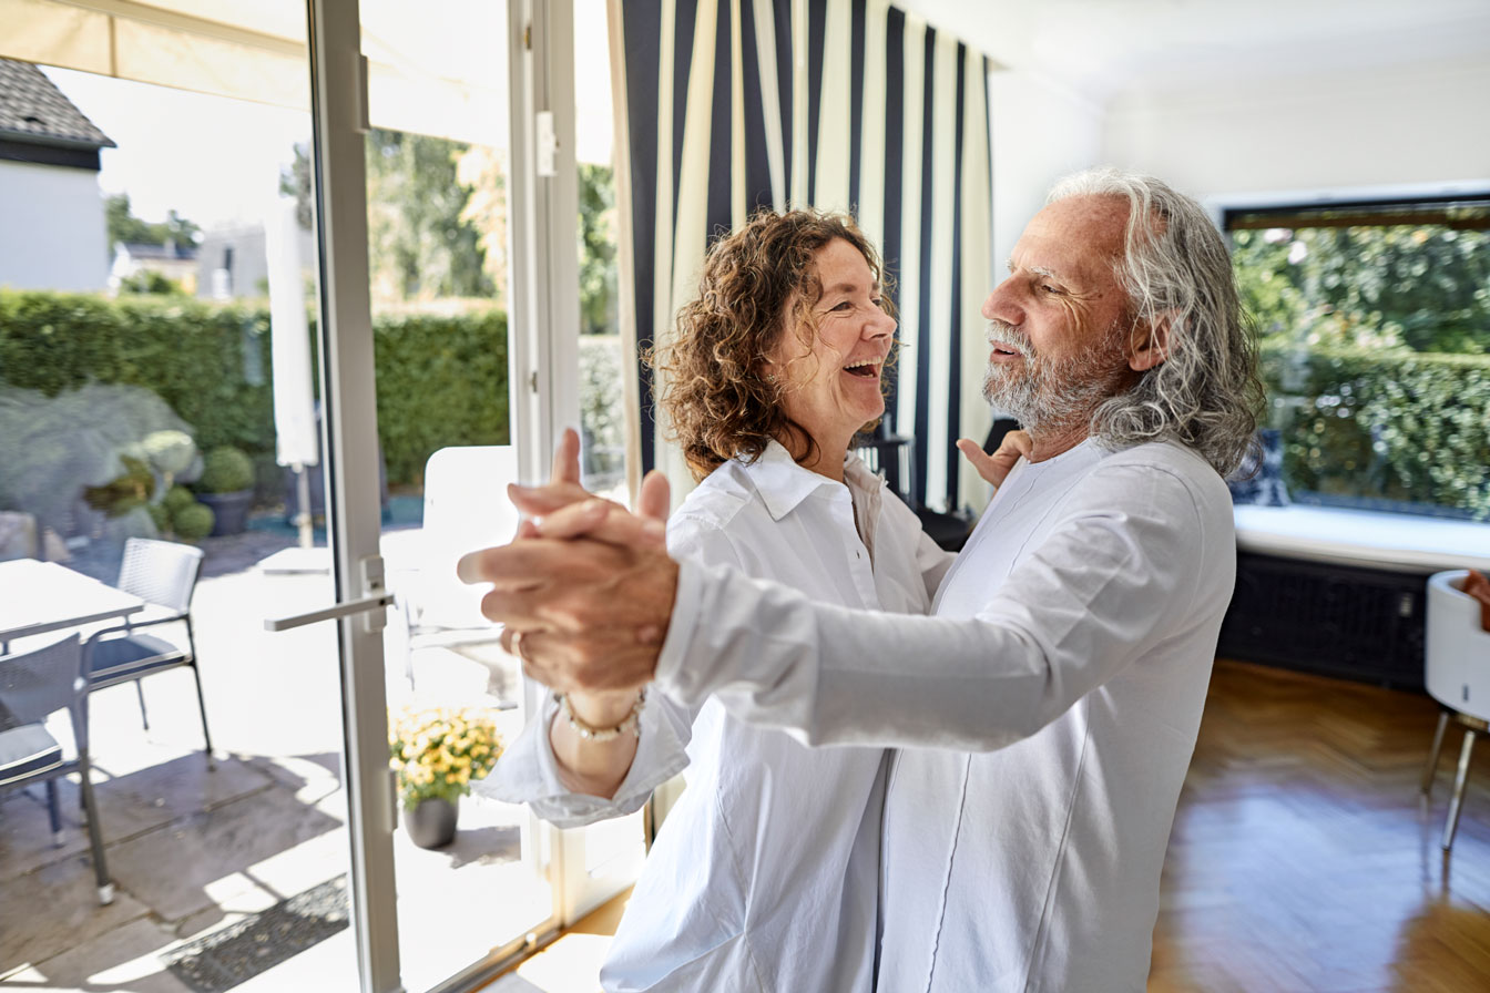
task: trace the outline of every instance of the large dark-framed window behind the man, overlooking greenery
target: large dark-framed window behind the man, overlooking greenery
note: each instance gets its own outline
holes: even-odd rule
[[[1290,497],[1490,518],[1490,195],[1225,226]]]

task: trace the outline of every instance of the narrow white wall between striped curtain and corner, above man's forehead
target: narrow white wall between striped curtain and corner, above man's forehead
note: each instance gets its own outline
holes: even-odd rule
[[[1059,83],[1021,70],[988,74],[994,146],[994,272],[1030,219],[1044,205],[1055,180],[1095,165],[1101,153],[1103,113]]]

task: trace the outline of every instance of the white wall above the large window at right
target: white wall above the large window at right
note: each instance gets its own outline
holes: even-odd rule
[[[1472,185],[1490,177],[1487,94],[1490,66],[1465,61],[1128,92],[1101,153],[1202,199]]]

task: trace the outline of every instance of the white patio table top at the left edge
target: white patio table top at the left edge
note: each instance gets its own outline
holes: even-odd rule
[[[57,563],[0,561],[0,642],[124,618],[145,600]]]

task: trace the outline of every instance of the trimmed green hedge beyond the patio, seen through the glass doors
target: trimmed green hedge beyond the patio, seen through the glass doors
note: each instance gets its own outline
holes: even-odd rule
[[[198,448],[274,454],[270,319],[262,305],[0,290],[0,383],[54,396],[85,383],[143,386]],[[392,484],[419,482],[444,445],[505,444],[507,316],[374,320],[378,433]]]

